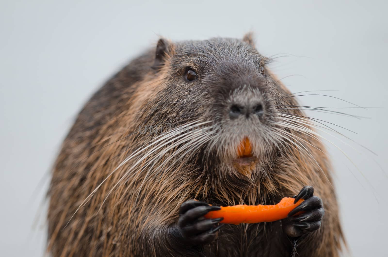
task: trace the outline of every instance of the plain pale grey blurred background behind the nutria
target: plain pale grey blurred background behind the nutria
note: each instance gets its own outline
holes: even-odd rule
[[[310,112],[372,149],[322,132],[335,147],[335,184],[350,249],[386,256],[385,1],[4,1],[0,3],[0,251],[42,256],[49,170],[73,118],[110,75],[158,35],[242,38],[262,54],[293,55],[271,65],[291,92],[321,92],[377,109],[340,109],[370,119]],[[316,92],[319,93],[319,92]],[[302,96],[303,104],[352,107]]]

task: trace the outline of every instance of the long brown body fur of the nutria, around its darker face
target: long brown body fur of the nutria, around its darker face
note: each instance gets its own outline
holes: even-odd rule
[[[246,36],[246,40],[248,45],[252,44],[251,36]],[[331,185],[331,166],[324,146],[311,135],[285,129],[284,133],[290,137],[284,141],[290,142],[263,154],[250,178],[238,172],[228,173],[228,168],[215,170],[198,155],[185,157],[179,163],[168,160],[179,145],[158,159],[156,171],[150,170],[147,160],[143,160],[130,172],[128,180],[128,177],[120,180],[139,160],[137,156],[111,174],[127,156],[152,142],[153,135],[149,132],[136,133],[139,125],[168,121],[182,125],[196,120],[188,108],[202,117],[210,116],[206,106],[197,104],[184,89],[175,90],[181,96],[179,104],[166,101],[173,94],[168,91],[172,82],[166,78],[171,76],[173,57],[180,54],[178,45],[171,46],[167,54],[164,66],[158,71],[150,68],[154,63],[153,49],[133,60],[94,94],[78,116],[62,145],[50,186],[50,254],[180,256],[159,234],[177,220],[178,208],[184,201],[195,198],[218,205],[273,204],[311,185],[315,195],[324,201],[326,213],[321,228],[301,240],[297,252],[300,256],[338,256],[343,234]],[[190,56],[183,61],[187,60],[195,61]],[[273,74],[267,74],[277,86],[268,92],[272,99],[290,94]],[[297,105],[294,97],[273,102]],[[297,109],[286,112],[304,115]],[[189,117],[179,118],[184,115]],[[291,143],[298,138],[305,140],[303,147],[319,166]],[[158,166],[165,160],[165,164]],[[292,248],[291,243],[279,247],[284,250],[273,248],[276,238],[284,238],[277,234],[275,226],[279,224],[281,221],[227,225],[220,230],[219,240],[205,245],[203,252],[207,256],[289,256],[284,253]],[[287,240],[279,239],[280,245],[284,242]]]

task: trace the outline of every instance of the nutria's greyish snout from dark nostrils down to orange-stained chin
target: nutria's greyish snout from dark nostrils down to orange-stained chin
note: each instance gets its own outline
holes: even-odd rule
[[[223,105],[223,141],[229,161],[241,174],[249,176],[267,148],[272,101],[263,83],[244,83],[230,90]],[[229,155],[229,153],[231,153]]]

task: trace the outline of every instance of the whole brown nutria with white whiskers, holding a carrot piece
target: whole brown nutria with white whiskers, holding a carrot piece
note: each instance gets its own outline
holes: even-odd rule
[[[298,129],[310,127],[298,122],[304,114],[269,61],[251,34],[161,38],[106,82],[54,165],[50,254],[339,256],[344,237],[326,150]],[[194,130],[198,124],[205,129]],[[244,137],[249,156],[238,155]],[[304,212],[281,221],[221,226],[203,218],[218,206],[295,194]]]

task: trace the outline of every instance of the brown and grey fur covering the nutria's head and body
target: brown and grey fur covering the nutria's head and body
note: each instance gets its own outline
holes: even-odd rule
[[[282,231],[281,221],[226,225],[211,245],[185,251],[171,245],[165,234],[186,200],[195,198],[213,205],[274,204],[311,185],[324,201],[326,214],[319,230],[298,241],[296,252],[299,256],[338,256],[343,234],[325,149],[318,139],[292,129],[279,127],[294,138],[274,137],[270,129],[270,122],[277,118],[274,104],[297,102],[294,97],[279,99],[290,92],[269,71],[265,79],[257,73],[252,78],[262,85],[256,93],[265,97],[268,117],[263,122],[268,124],[257,126],[261,129],[258,135],[243,131],[255,137],[253,151],[261,156],[260,161],[249,176],[227,161],[243,133],[227,132],[232,125],[222,110],[227,101],[240,97],[241,90],[249,90],[236,90],[250,75],[249,70],[268,61],[253,47],[251,36],[243,41],[213,38],[169,46],[160,68],[152,67],[153,48],[113,76],[88,101],[71,128],[55,163],[49,191],[50,254],[196,256],[199,251],[206,256],[290,256],[294,242]],[[201,86],[182,80],[186,66],[196,69],[203,79]],[[228,85],[228,81],[236,85]],[[303,115],[297,109],[286,111]],[[210,125],[220,124],[225,131],[178,163],[168,156],[181,145],[161,156],[152,168],[146,161],[157,152],[129,174],[140,156],[111,174],[127,156],[152,142],[155,134],[137,133],[139,126],[183,125],[198,119],[213,120]],[[298,137],[310,143],[302,142],[318,165],[291,142]]]

